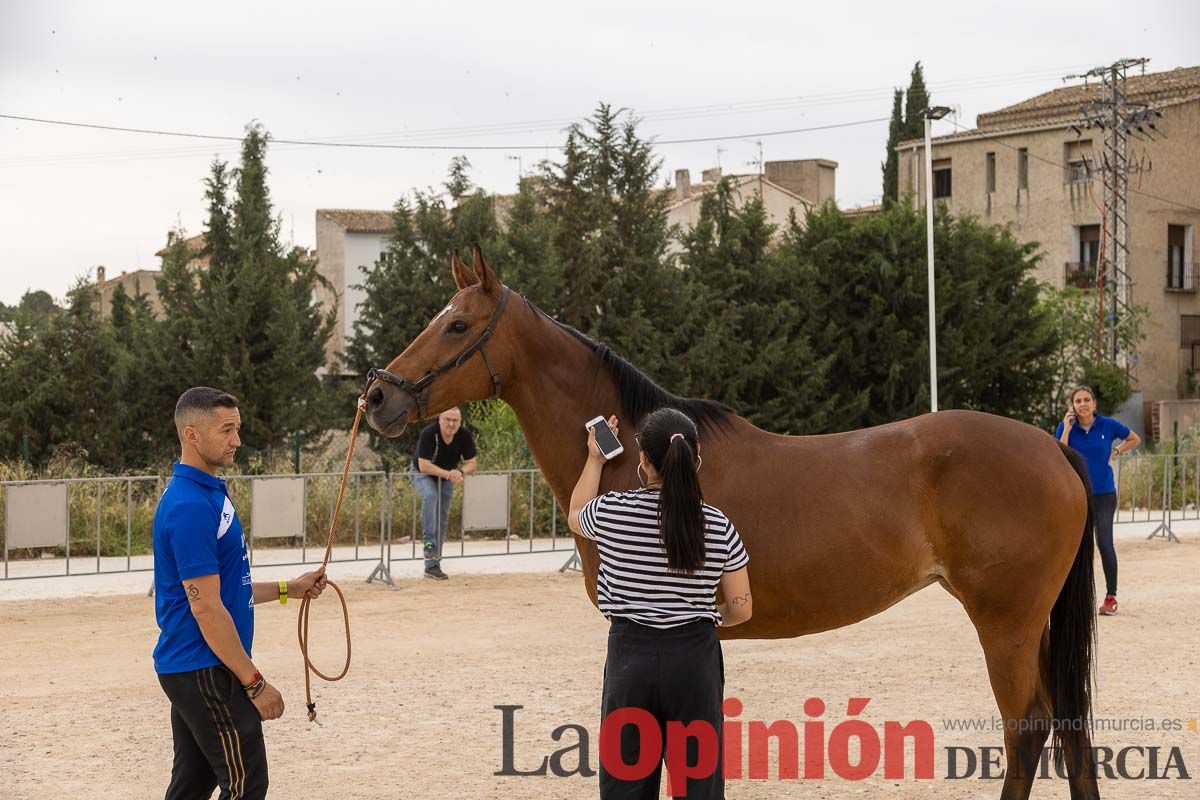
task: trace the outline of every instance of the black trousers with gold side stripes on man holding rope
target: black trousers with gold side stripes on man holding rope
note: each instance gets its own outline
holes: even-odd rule
[[[224,667],[158,675],[170,700],[175,759],[166,800],[266,796],[263,718]]]

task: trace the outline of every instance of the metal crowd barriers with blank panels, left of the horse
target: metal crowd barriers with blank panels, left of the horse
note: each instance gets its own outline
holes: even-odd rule
[[[473,489],[475,476],[492,480],[479,481]],[[331,563],[373,560],[376,569],[367,579],[394,585],[392,563],[424,558],[420,495],[413,477],[350,473]],[[154,512],[164,480],[138,475],[0,481],[2,579],[152,571]],[[251,564],[319,563],[340,480],[341,473],[226,476]],[[455,491],[445,510],[449,529],[442,558],[574,548],[565,530],[559,535],[558,504],[539,470],[475,473],[466,491],[473,493],[470,513],[463,513],[463,489]],[[396,542],[403,536],[397,531],[410,539]]]

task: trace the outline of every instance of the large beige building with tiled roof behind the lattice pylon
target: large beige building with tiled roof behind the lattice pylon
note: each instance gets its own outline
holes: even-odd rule
[[[1200,375],[1200,300],[1194,230],[1200,223],[1200,67],[1128,79],[1129,100],[1162,112],[1130,139],[1144,172],[1129,181],[1133,301],[1150,309],[1135,375],[1144,401],[1194,397]],[[1009,225],[1044,254],[1043,282],[1084,283],[1104,237],[1104,185],[1093,168],[1100,130],[1078,126],[1100,89],[1067,86],[980,114],[977,127],[932,139],[934,199],[954,213]],[[924,142],[898,145],[900,192],[924,206]],[[1147,420],[1148,422],[1148,420]],[[1147,426],[1148,427],[1148,426]]]

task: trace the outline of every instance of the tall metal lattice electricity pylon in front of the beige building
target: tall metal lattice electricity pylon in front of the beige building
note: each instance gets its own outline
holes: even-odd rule
[[[1163,113],[1148,103],[1132,102],[1127,90],[1130,67],[1141,67],[1150,59],[1121,59],[1108,66],[1096,67],[1064,80],[1084,79],[1085,86],[1098,82],[1099,98],[1080,104],[1080,121],[1073,126],[1076,136],[1085,130],[1098,130],[1104,148],[1098,164],[1085,161],[1087,178],[1099,173],[1104,187],[1105,241],[1097,265],[1100,320],[1096,350],[1100,359],[1121,367],[1136,384],[1136,354],[1121,342],[1121,329],[1133,312],[1133,272],[1129,264],[1129,175],[1150,172],[1150,166],[1129,161],[1129,139],[1153,139],[1158,132],[1156,120]],[[1068,169],[1070,166],[1068,164]]]

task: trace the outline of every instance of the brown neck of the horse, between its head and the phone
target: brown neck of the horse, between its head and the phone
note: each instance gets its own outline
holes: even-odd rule
[[[515,335],[516,357],[502,399],[516,411],[534,461],[565,509],[587,458],[583,423],[619,414],[620,396],[589,347],[533,308],[527,312]],[[622,438],[628,441],[630,433]],[[605,471],[607,483],[612,470]]]

